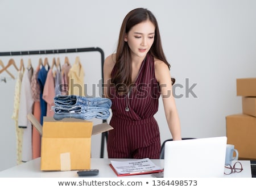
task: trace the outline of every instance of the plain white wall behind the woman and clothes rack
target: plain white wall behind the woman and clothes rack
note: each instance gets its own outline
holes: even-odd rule
[[[225,116],[241,113],[236,78],[256,77],[256,1],[0,1],[0,52],[100,47],[105,57],[114,52],[119,28],[128,11],[151,10],[159,22],[171,74],[183,88],[176,88],[176,104],[183,137],[225,136]],[[75,60],[77,54],[68,54]],[[64,61],[65,54],[60,55]],[[100,80],[98,54],[79,54],[86,82]],[[39,57],[22,56],[32,65]],[[53,56],[47,55],[49,60]],[[7,64],[10,57],[0,57]],[[19,64],[21,56],[13,56]],[[86,67],[87,66],[87,67]],[[15,70],[10,69],[13,74]],[[13,112],[15,81],[6,73],[0,82],[0,170],[15,166]],[[96,80],[93,80],[93,79]],[[90,80],[92,79],[92,80]],[[187,79],[187,80],[186,80]],[[193,88],[197,96],[186,94]],[[156,114],[162,141],[170,138],[162,102]],[[92,157],[100,157],[101,136],[92,138]],[[106,154],[105,154],[106,156]]]

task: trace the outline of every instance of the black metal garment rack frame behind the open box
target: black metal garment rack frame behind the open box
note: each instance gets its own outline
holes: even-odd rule
[[[33,54],[60,54],[60,53],[79,53],[79,52],[93,52],[98,51],[101,54],[101,78],[103,81],[103,64],[104,64],[104,51],[99,47],[88,47],[88,48],[72,48],[72,49],[52,49],[52,50],[39,50],[39,51],[11,51],[11,52],[0,52],[0,56],[20,56],[20,55],[33,55]],[[102,82],[103,91],[103,82]],[[105,123],[106,120],[103,120]],[[108,141],[108,132],[101,134],[101,152],[100,157],[104,157],[104,144]]]

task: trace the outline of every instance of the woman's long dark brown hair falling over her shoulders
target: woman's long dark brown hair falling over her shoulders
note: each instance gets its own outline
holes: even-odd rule
[[[152,44],[149,53],[152,54],[152,56],[154,56],[155,58],[158,58],[159,60],[162,60],[165,64],[167,64],[169,69],[171,67],[171,65],[166,60],[166,56],[164,55],[163,52],[158,22],[156,21],[155,16],[152,14],[151,11],[147,9],[138,8],[131,10],[123,19],[123,23],[119,33],[119,40],[115,60],[115,66],[117,66],[117,69],[115,74],[112,76],[112,83],[115,87],[120,86],[121,83],[126,87],[132,84],[131,53],[128,44],[124,41],[125,34],[128,33],[133,26],[146,20],[150,20],[150,22],[152,22],[152,24],[154,24],[155,26],[154,43]],[[172,78],[172,84],[174,84],[174,82],[175,79]],[[116,88],[115,90],[118,89]]]

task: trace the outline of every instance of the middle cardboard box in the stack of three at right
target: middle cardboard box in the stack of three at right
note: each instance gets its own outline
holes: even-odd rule
[[[242,97],[243,114],[256,117],[256,97]]]

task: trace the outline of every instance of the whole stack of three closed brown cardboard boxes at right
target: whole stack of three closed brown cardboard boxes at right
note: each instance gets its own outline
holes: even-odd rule
[[[226,116],[228,144],[235,145],[239,159],[256,159],[256,78],[237,79],[242,113]]]

